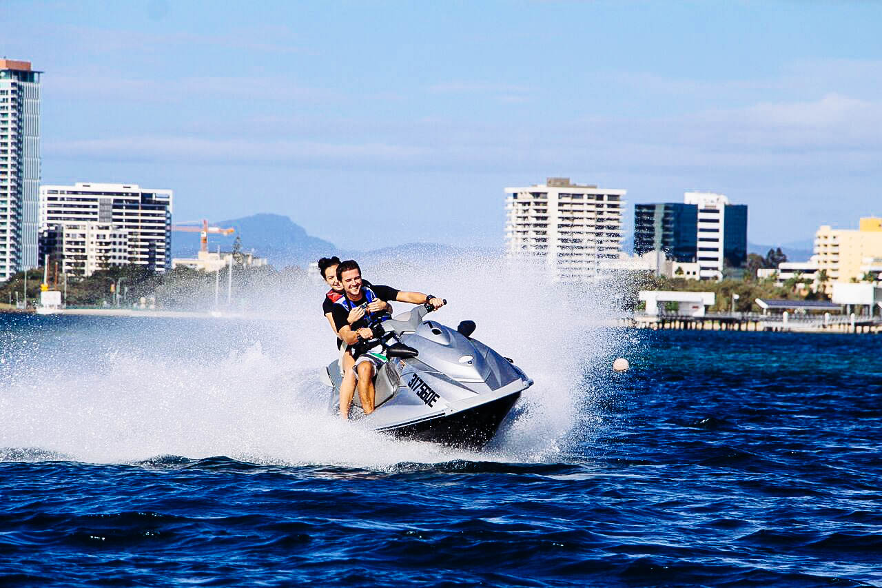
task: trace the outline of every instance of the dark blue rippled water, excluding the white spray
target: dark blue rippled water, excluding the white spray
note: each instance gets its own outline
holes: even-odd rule
[[[0,449],[0,585],[882,586],[882,337],[638,336],[548,463]]]

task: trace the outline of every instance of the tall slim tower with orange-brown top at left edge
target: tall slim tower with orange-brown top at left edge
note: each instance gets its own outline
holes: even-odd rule
[[[41,73],[0,59],[0,281],[38,265]]]

